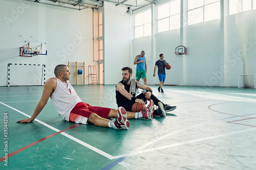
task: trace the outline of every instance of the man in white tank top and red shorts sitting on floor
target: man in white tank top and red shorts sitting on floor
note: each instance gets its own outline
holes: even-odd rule
[[[123,107],[118,110],[90,106],[83,103],[74,88],[69,83],[70,72],[66,65],[57,65],[54,69],[55,78],[50,78],[44,85],[44,90],[32,116],[19,120],[17,123],[30,123],[44,109],[49,97],[59,115],[67,121],[88,124],[114,129],[128,129],[130,123],[127,119],[135,118],[136,113],[126,112]],[[148,105],[144,112],[151,116],[153,105]],[[112,120],[108,118],[113,118]],[[142,116],[137,117],[142,118]]]

